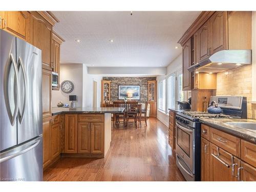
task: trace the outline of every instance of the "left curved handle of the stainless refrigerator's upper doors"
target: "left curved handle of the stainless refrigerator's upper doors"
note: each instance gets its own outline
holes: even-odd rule
[[[11,106],[10,106],[10,100],[9,100],[9,94],[8,94],[8,88],[9,88],[8,79],[9,79],[9,73],[10,73],[11,65],[13,65],[14,73],[15,73],[15,75],[14,75],[14,78],[15,78],[14,84],[16,83],[16,86],[13,84],[13,86],[15,87],[15,94],[14,94],[15,95],[15,101],[14,101],[15,102],[15,108],[14,108],[13,115],[12,115],[12,112],[11,112]],[[7,67],[7,70],[5,72],[4,94],[5,94],[5,102],[6,102],[7,113],[8,113],[11,125],[13,126],[14,123],[15,123],[16,117],[17,117],[17,113],[18,113],[19,83],[18,83],[18,68],[17,68],[16,62],[14,60],[14,57],[13,57],[12,53],[10,54],[9,61],[8,61],[8,67]]]

